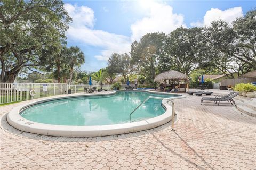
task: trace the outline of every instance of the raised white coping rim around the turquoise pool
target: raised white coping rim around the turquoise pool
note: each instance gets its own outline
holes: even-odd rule
[[[130,91],[130,90],[119,90],[119,91]],[[132,91],[144,91],[149,93],[156,94],[166,94],[163,92],[149,91],[149,90],[132,90]],[[71,94],[71,95],[61,95],[42,98],[37,101],[31,101],[14,107],[7,115],[7,122],[12,125],[14,128],[17,128],[21,131],[36,133],[41,135],[51,135],[55,137],[100,137],[106,135],[117,135],[125,134],[131,132],[138,132],[142,130],[148,130],[156,128],[157,126],[163,125],[172,120],[172,106],[167,104],[168,100],[162,100],[163,106],[166,108],[166,112],[157,117],[148,118],[146,120],[131,122],[131,123],[122,123],[122,124],[113,124],[113,125],[100,125],[100,126],[69,126],[69,125],[52,125],[33,122],[23,118],[20,115],[20,111],[29,106],[43,103],[45,101],[64,99],[64,98],[73,98],[73,97],[83,97],[83,96],[101,96],[101,95],[114,95],[115,91],[99,92],[93,94]],[[184,95],[180,94],[171,94],[177,95],[177,97],[171,97],[171,99],[180,99],[186,98]],[[175,106],[174,106],[175,107]]]

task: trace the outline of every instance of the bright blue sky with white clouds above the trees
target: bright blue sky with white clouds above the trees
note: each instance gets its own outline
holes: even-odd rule
[[[256,1],[64,1],[73,18],[68,46],[85,54],[82,70],[107,66],[112,53],[130,52],[134,40],[149,32],[202,27],[213,20],[231,23],[256,7]]]

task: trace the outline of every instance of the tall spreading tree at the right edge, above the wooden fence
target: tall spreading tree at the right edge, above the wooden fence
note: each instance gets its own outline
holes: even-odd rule
[[[255,30],[256,10],[253,10],[236,19],[232,25],[222,20],[212,22],[207,27],[206,38],[215,51],[235,61],[231,64],[236,64],[238,74],[243,74],[256,69]]]

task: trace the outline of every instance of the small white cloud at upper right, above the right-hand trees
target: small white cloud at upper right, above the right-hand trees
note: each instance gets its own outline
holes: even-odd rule
[[[205,25],[209,26],[212,21],[216,21],[220,19],[227,21],[230,24],[236,18],[239,18],[242,16],[243,16],[242,7],[229,8],[228,10],[224,10],[224,11],[221,11],[217,8],[211,8],[211,10],[208,10],[205,13],[203,21],[192,22],[190,23],[190,25],[194,27],[203,27]]]

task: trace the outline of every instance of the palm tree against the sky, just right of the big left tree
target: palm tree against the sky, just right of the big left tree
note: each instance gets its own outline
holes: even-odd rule
[[[76,66],[81,66],[81,64],[84,64],[85,62],[85,56],[84,56],[84,53],[81,52],[80,48],[77,47],[77,46],[71,46],[69,49],[68,49],[68,52],[67,52],[67,55],[69,56],[69,72],[70,72],[70,75],[69,75],[69,79],[70,79],[70,82],[72,81],[72,78],[73,78],[73,72],[74,72],[74,67]]]

